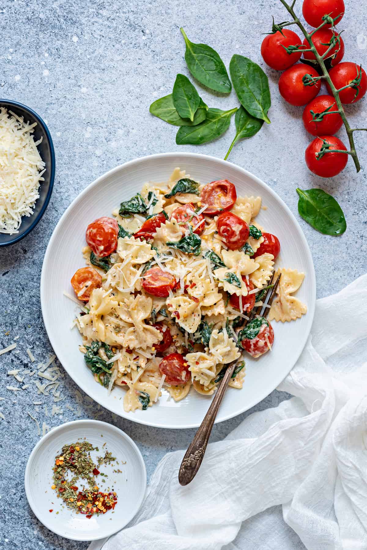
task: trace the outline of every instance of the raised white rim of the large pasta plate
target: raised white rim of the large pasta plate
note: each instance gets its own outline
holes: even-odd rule
[[[309,334],[310,334],[310,331],[311,331],[311,326],[313,324],[313,320],[314,320],[314,315],[315,315],[315,307],[316,307],[316,274],[315,274],[315,266],[314,266],[314,262],[313,262],[313,258],[312,258],[312,255],[311,255],[311,251],[310,251],[310,247],[309,247],[309,244],[305,238],[305,235],[302,231],[302,228],[300,227],[297,219],[295,218],[295,216],[293,215],[292,211],[290,210],[290,208],[286,205],[286,203],[283,201],[283,199],[281,199],[281,197],[269,186],[267,185],[265,182],[263,182],[260,178],[258,178],[257,176],[255,176],[253,173],[249,172],[248,170],[246,170],[245,168],[242,168],[241,166],[238,166],[238,164],[234,164],[233,162],[229,162],[229,161],[224,161],[222,160],[221,158],[218,158],[218,157],[213,157],[211,155],[204,155],[202,153],[189,153],[189,152],[168,152],[168,153],[156,153],[155,155],[146,155],[144,157],[138,157],[138,158],[134,158],[132,161],[128,161],[128,162],[125,162],[123,164],[119,164],[119,166],[115,167],[115,168],[112,168],[111,170],[105,172],[104,174],[102,174],[100,177],[98,177],[97,179],[94,180],[94,182],[90,183],[89,185],[86,186],[85,189],[83,189],[83,191],[81,191],[79,193],[79,195],[77,195],[75,197],[75,199],[71,202],[71,204],[67,207],[67,209],[64,211],[63,215],[61,216],[61,218],[59,219],[58,223],[56,224],[56,227],[53,229],[53,232],[52,232],[52,235],[51,235],[51,238],[50,238],[50,241],[48,241],[48,245],[47,245],[47,249],[46,249],[46,252],[45,252],[45,256],[43,257],[43,262],[42,262],[42,271],[41,271],[41,280],[40,280],[40,299],[41,299],[41,311],[42,311],[42,318],[43,318],[43,324],[45,325],[45,328],[46,328],[46,333],[47,333],[47,336],[48,336],[48,339],[50,340],[50,343],[51,343],[51,346],[53,348],[53,350],[55,350],[55,346],[56,344],[54,345],[54,339],[52,338],[52,336],[50,335],[50,332],[48,331],[48,328],[47,328],[47,323],[45,321],[45,318],[46,318],[46,300],[45,300],[45,296],[44,296],[44,293],[45,293],[45,279],[46,279],[46,263],[47,263],[47,260],[48,260],[48,256],[51,254],[51,249],[52,249],[52,245],[53,245],[53,241],[56,239],[56,233],[57,233],[57,229],[59,228],[59,226],[62,225],[63,223],[63,220],[65,217],[67,217],[68,213],[70,210],[72,210],[72,207],[75,203],[76,200],[81,200],[87,193],[90,193],[91,189],[93,189],[95,186],[99,185],[101,182],[103,182],[103,180],[105,180],[106,178],[108,177],[111,177],[111,175],[115,174],[116,172],[120,171],[122,168],[123,169],[126,169],[126,168],[129,168],[131,166],[134,166],[134,164],[138,164],[139,162],[143,162],[143,161],[147,161],[147,160],[159,160],[160,158],[170,158],[170,157],[176,157],[176,156],[180,156],[182,157],[183,159],[184,158],[198,158],[198,159],[201,159],[201,160],[206,160],[206,161],[215,161],[215,162],[220,162],[222,164],[224,164],[224,166],[228,165],[228,166],[231,166],[231,167],[234,167],[236,170],[238,170],[239,172],[242,172],[245,176],[249,177],[250,179],[253,179],[257,184],[260,185],[260,187],[264,187],[266,188],[266,190],[273,196],[275,197],[275,199],[277,201],[280,201],[283,208],[286,210],[288,216],[292,219],[293,223],[295,223],[297,226],[298,226],[298,229],[299,229],[299,233],[300,233],[300,236],[301,236],[301,239],[303,241],[303,245],[304,245],[304,250],[306,252],[306,256],[307,256],[307,259],[308,259],[308,262],[311,266],[311,273],[308,273],[308,277],[310,278],[310,285],[311,285],[311,293],[313,294],[313,299],[312,299],[312,303],[308,304],[308,311],[307,311],[307,316],[309,318],[309,326],[308,326],[308,329],[304,332],[304,335],[303,335],[303,345],[302,347],[300,348],[300,351],[299,351],[299,354],[297,357],[295,357],[294,361],[293,361],[293,364],[289,367],[289,370],[286,374],[286,376],[288,376],[289,372],[291,372],[292,368],[294,367],[295,363],[298,361],[300,355],[302,354],[302,351],[304,349],[304,346],[306,345],[306,342],[308,340],[308,337],[309,337]],[[55,351],[56,353],[56,351]],[[57,353],[56,353],[57,355]],[[58,355],[57,355],[58,356]],[[59,359],[59,361],[61,362],[63,368],[65,369],[65,371],[67,371],[68,375],[70,376],[70,378],[73,379],[73,381],[75,382],[73,376],[72,376],[72,368],[67,368],[65,367],[65,365],[62,363],[62,361]],[[273,391],[274,389],[276,389],[279,384],[284,380],[284,378],[286,378],[286,376],[283,376],[281,375],[280,378],[276,378],[277,379],[277,382],[276,382],[276,385],[275,387],[271,390]],[[94,399],[93,397],[91,397],[91,395],[89,394],[89,388],[90,386],[88,386],[87,383],[83,383],[83,384],[79,384],[77,382],[75,382],[77,386],[79,386],[79,388],[81,388],[83,390],[84,393],[86,393],[87,395],[89,395],[89,397],[91,399],[93,399],[94,401],[96,401],[96,403],[99,403],[101,406],[103,406],[103,408],[113,412],[114,414],[117,414],[118,416],[121,416],[122,418],[125,418],[127,420],[131,420],[132,422],[136,422],[136,423],[139,423],[139,424],[142,424],[142,425],[145,425],[145,426],[152,426],[152,427],[157,427],[157,428],[167,428],[168,430],[187,430],[189,428],[197,428],[200,426],[200,423],[201,422],[195,422],[195,423],[189,423],[189,424],[185,424],[185,425],[182,425],[182,426],[176,426],[174,424],[162,424],[162,423],[157,423],[157,422],[152,422],[150,421],[149,419],[145,420],[145,419],[137,419],[136,417],[132,417],[132,415],[129,415],[127,412],[125,412],[124,410],[123,411],[119,411],[117,412],[115,409],[112,409],[110,408],[109,406],[106,406],[105,404],[102,404],[100,403],[100,401],[97,401],[96,399]],[[271,392],[270,392],[271,393]],[[249,403],[245,404],[243,406],[242,409],[240,409],[239,411],[235,412],[234,414],[228,414],[224,417],[216,417],[215,419],[215,423],[219,423],[219,422],[224,422],[225,420],[229,420],[231,418],[234,418],[240,414],[242,414],[243,412],[245,411],[248,411],[249,409],[251,409],[253,406],[257,405],[258,403],[260,403],[260,401],[264,400],[268,395],[270,395],[270,393],[267,393],[267,391],[265,391],[264,394],[261,394],[260,398],[255,398],[254,400],[251,400]],[[209,404],[208,404],[209,406]]]

